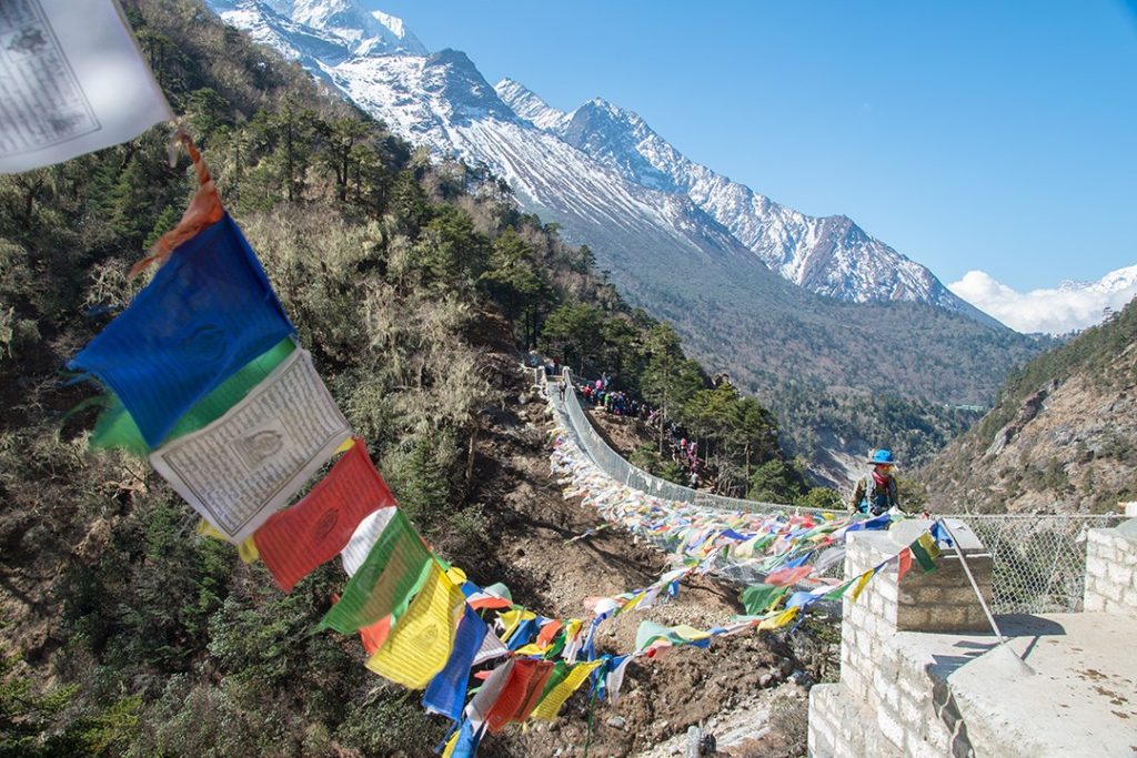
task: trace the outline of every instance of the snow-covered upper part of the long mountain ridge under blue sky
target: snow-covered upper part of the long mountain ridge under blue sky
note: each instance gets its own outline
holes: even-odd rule
[[[748,249],[810,292],[854,302],[928,302],[989,322],[852,219],[780,206],[692,163],[638,115],[604,100],[564,113],[517,82],[491,88],[464,53],[429,55],[401,20],[367,13],[355,0],[210,5],[397,134],[439,156],[488,166],[526,210],[554,216],[580,241],[591,241],[598,224],[641,233],[648,219],[653,236],[683,245],[708,238],[732,255]],[[597,252],[604,260],[604,250]]]

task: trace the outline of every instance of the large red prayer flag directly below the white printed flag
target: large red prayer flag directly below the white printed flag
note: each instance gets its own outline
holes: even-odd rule
[[[291,592],[297,582],[347,545],[360,520],[392,506],[395,498],[372,465],[367,444],[356,438],[312,492],[288,510],[273,514],[252,539],[273,578]]]

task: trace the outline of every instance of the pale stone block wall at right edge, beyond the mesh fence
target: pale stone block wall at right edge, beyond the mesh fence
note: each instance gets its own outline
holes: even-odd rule
[[[1128,503],[1126,514],[1137,516],[1137,503]],[[1089,531],[1085,610],[1137,617],[1137,519]]]

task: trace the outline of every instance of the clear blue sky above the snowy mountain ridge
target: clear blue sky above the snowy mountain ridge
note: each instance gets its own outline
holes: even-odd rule
[[[1137,1],[365,0],[571,110],[846,214],[945,283],[1137,264]]]

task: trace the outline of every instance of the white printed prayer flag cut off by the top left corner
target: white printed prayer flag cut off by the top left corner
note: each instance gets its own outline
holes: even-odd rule
[[[173,118],[117,2],[0,1],[0,174],[118,144]]]

